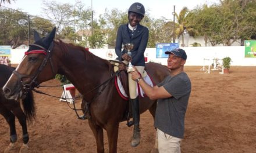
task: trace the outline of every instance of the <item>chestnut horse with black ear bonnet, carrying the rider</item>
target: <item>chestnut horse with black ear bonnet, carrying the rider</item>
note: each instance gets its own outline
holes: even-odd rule
[[[115,88],[113,65],[80,46],[54,41],[54,36],[55,28],[44,38],[34,33],[34,44],[3,88],[5,96],[19,99],[27,90],[54,78],[56,73],[65,75],[83,95],[81,108],[90,104],[88,123],[97,142],[97,152],[104,152],[103,129],[108,136],[109,152],[116,152],[119,122],[126,121],[127,101]],[[157,63],[147,63],[146,70],[154,83],[169,75],[168,68]],[[149,110],[154,117],[156,102],[140,98],[140,112]]]

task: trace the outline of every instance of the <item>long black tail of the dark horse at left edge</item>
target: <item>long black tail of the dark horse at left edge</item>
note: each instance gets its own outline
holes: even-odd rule
[[[23,110],[27,116],[27,121],[32,122],[33,118],[35,119],[35,105],[34,105],[34,95],[30,91],[26,94],[25,99],[22,100]]]

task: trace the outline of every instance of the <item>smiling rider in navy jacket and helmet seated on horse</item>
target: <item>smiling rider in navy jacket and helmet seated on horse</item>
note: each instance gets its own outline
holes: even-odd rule
[[[118,34],[116,37],[115,52],[118,55],[118,59],[124,63],[131,62],[140,74],[143,74],[145,68],[144,52],[148,43],[148,28],[140,25],[140,21],[145,14],[145,8],[141,3],[133,3],[128,10],[129,23],[120,25]],[[122,45],[126,43],[133,43],[133,49],[131,50],[131,56],[127,54],[127,50],[122,50]],[[136,147],[140,144],[140,103],[136,93],[137,82],[131,79],[131,74],[128,74],[129,78],[129,93],[131,109],[133,114],[133,137],[131,138],[131,146]]]

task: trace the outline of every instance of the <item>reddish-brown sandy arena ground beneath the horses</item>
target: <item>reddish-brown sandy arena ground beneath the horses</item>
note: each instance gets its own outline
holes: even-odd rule
[[[256,67],[231,67],[230,74],[205,74],[201,67],[185,67],[192,82],[186,114],[182,152],[256,152]],[[56,80],[43,85],[59,85]],[[61,96],[61,88],[40,90]],[[29,125],[29,152],[96,152],[88,121],[77,119],[65,102],[34,93],[37,119]],[[79,100],[76,101],[77,106]],[[79,112],[81,115],[81,112]],[[141,143],[130,147],[132,128],[120,123],[118,152],[150,152],[154,146],[153,119],[141,115]],[[9,126],[0,116],[0,152],[9,144]],[[16,121],[17,145],[22,145],[21,126]],[[108,142],[104,132],[105,152]],[[13,152],[18,152],[16,148]]]

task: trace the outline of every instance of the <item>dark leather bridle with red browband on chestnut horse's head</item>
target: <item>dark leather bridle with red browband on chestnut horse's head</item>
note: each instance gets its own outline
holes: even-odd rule
[[[47,64],[48,60],[50,61],[52,72],[53,72],[53,74],[55,74],[54,66],[52,64],[52,59],[51,59],[51,52],[52,52],[52,49],[54,48],[54,42],[53,41],[51,42],[51,45],[49,46],[48,49],[45,49],[44,47],[34,44],[34,43],[30,44],[29,46],[36,46],[36,47],[40,48],[41,50],[30,50],[30,51],[25,52],[25,55],[31,54],[31,53],[42,53],[42,54],[45,54],[45,57],[40,65],[40,67],[37,69],[37,71],[35,71],[35,73],[33,75],[20,74],[16,70],[13,71],[13,74],[15,74],[17,76],[18,81],[19,81],[18,88],[21,87],[22,92],[24,94],[27,94],[31,89],[38,86],[37,77],[40,74],[40,72],[43,70],[45,65]],[[23,78],[30,78],[31,81],[27,84],[24,84]]]

